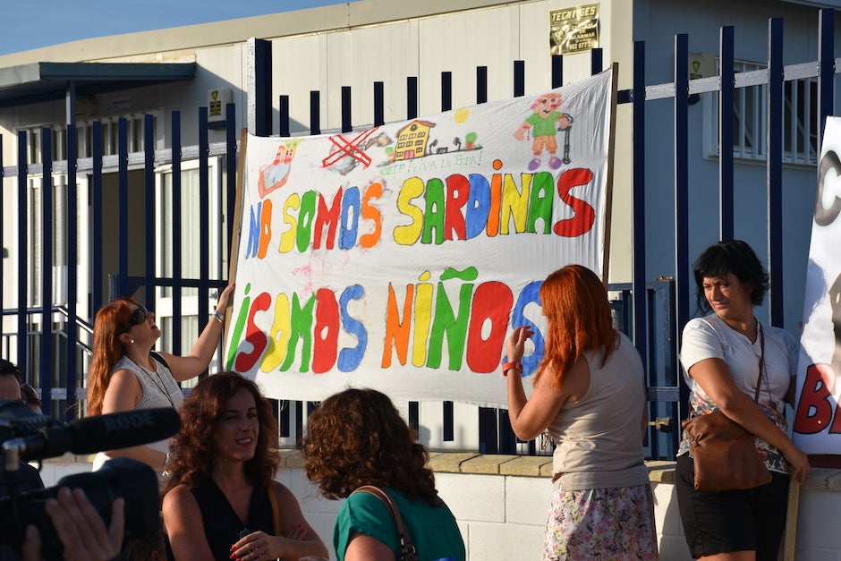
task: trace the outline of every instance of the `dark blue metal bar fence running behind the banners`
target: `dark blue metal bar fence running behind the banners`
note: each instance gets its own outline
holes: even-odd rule
[[[720,107],[718,111],[718,172],[720,197],[720,238],[728,239],[734,236],[734,126],[735,115],[728,108],[734,106],[734,98],[739,89],[762,84],[765,86],[766,112],[765,131],[767,132],[767,188],[769,212],[769,271],[771,285],[781,285],[782,268],[777,267],[782,254],[782,166],[784,162],[784,127],[783,120],[774,118],[784,111],[784,89],[789,82],[816,79],[817,107],[813,121],[810,117],[811,131],[818,134],[820,146],[820,132],[826,117],[833,113],[833,98],[835,95],[833,79],[836,73],[836,59],[834,57],[834,12],[821,10],[818,21],[819,52],[817,61],[803,64],[784,66],[782,64],[783,21],[769,20],[769,51],[768,67],[764,70],[752,72],[735,72],[734,68],[734,29],[725,27],[720,30],[720,52],[718,54],[718,75],[711,78],[690,80],[687,65],[688,38],[686,35],[675,36],[675,67],[674,81],[656,85],[645,83],[645,44],[642,41],[633,43],[633,87],[619,91],[618,103],[630,104],[633,108],[633,278],[624,285],[611,285],[610,291],[614,297],[612,305],[616,311],[616,326],[633,338],[634,344],[643,357],[646,366],[651,429],[648,442],[649,455],[652,458],[672,459],[675,455],[678,440],[679,420],[682,418],[686,402],[686,389],[681,382],[677,364],[678,334],[684,323],[690,319],[690,291],[691,280],[688,277],[689,268],[689,129],[687,112],[691,105],[692,96],[701,93],[716,92]],[[249,80],[249,128],[251,132],[266,136],[272,132],[272,63],[271,44],[262,39],[249,40],[249,54],[252,57]],[[559,87],[563,83],[563,57],[552,57],[551,86]],[[602,53],[600,49],[593,49],[591,53],[591,72],[602,70]],[[522,61],[513,63],[514,96],[525,95],[524,91],[525,64]],[[488,72],[485,67],[476,69],[477,91],[476,103],[484,103],[488,99]],[[408,95],[406,99],[406,118],[416,118],[418,115],[418,77],[407,77]],[[442,72],[441,109],[452,108],[450,72]],[[383,90],[382,82],[375,82],[374,88],[374,125],[383,123]],[[645,210],[646,180],[649,171],[645,168],[646,134],[645,115],[646,104],[656,99],[671,99],[673,101],[674,116],[674,155],[675,168],[675,271],[674,278],[647,279],[645,243],[647,217]],[[310,132],[320,134],[319,92],[310,94]],[[279,96],[279,122],[277,130],[281,136],[288,136],[290,131],[289,98]],[[350,88],[342,89],[342,131],[353,130],[351,120],[352,92]],[[11,166],[0,161],[3,192],[0,197],[0,215],[4,221],[13,220],[18,236],[16,251],[18,253],[18,268],[14,276],[7,275],[4,269],[4,281],[12,282],[16,286],[17,301],[2,302],[4,325],[13,322],[13,330],[4,331],[0,336],[0,352],[6,357],[16,358],[26,372],[30,384],[38,387],[45,404],[51,404],[48,411],[56,417],[72,419],[79,414],[76,407],[83,398],[84,376],[89,364],[91,344],[91,326],[84,318],[92,318],[93,312],[112,296],[135,293],[142,290],[146,302],[154,299],[157,290],[166,290],[172,297],[171,315],[182,318],[187,315],[183,310],[183,293],[190,291],[198,295],[198,309],[194,310],[194,317],[198,319],[198,329],[204,327],[208,318],[208,301],[213,291],[224,286],[225,270],[216,268],[211,270],[211,260],[215,263],[224,262],[225,255],[230,254],[230,243],[234,238],[232,227],[234,224],[234,192],[237,174],[237,131],[234,130],[234,106],[228,105],[226,111],[225,141],[211,144],[208,141],[208,109],[199,110],[199,144],[198,146],[181,146],[180,115],[174,112],[171,121],[171,138],[167,140],[171,148],[152,149],[152,131],[154,123],[151,116],[147,116],[144,126],[146,149],[143,152],[129,153],[127,147],[128,127],[125,119],[118,125],[118,153],[105,156],[102,149],[101,128],[94,125],[92,134],[92,156],[84,158],[68,157],[66,160],[54,161],[52,154],[52,130],[43,129],[41,133],[41,161],[30,164],[27,161],[28,139],[25,133],[18,135],[18,159]],[[72,125],[66,130],[67,153],[76,154],[76,134]],[[0,138],[0,143],[4,141]],[[221,174],[212,177],[209,173],[209,158],[219,158]],[[198,161],[199,169],[199,235],[201,239],[210,236],[220,236],[218,243],[220,254],[211,256],[202,252],[198,275],[189,278],[183,273],[183,212],[181,188],[181,170],[183,162]],[[169,243],[173,248],[172,261],[166,267],[160,265],[160,255],[157,251],[155,209],[160,204],[156,200],[155,182],[156,168],[171,166],[172,169],[172,224],[166,225],[167,235],[171,235]],[[129,193],[129,169],[142,166],[143,187],[141,208],[133,208]],[[79,224],[77,216],[79,209],[77,176],[80,173],[89,174],[90,200],[92,203],[89,224]],[[116,231],[103,229],[103,200],[106,196],[104,178],[116,175],[115,191],[118,198],[118,216]],[[56,178],[61,178],[61,184],[66,188],[61,191],[61,197],[54,197]],[[32,181],[40,181],[40,196],[38,205],[35,198],[30,196],[33,189]],[[113,193],[112,193],[113,195]],[[211,221],[208,208],[211,198],[216,198],[217,208],[224,208],[223,223],[225,229],[220,232],[211,231]],[[13,200],[17,200],[18,208],[14,212]],[[138,216],[140,213],[141,216]],[[132,220],[141,220],[144,228],[144,240],[140,244],[132,241],[130,244],[129,224]],[[33,240],[22,233],[31,230],[30,221],[37,220],[40,240],[38,251],[33,251]],[[75,232],[79,228],[92,229],[92,248],[89,262],[74,267],[80,259],[80,248],[77,247]],[[58,235],[56,228],[62,235]],[[116,258],[106,259],[103,253],[104,237],[116,238]],[[0,240],[0,242],[3,242]],[[55,283],[55,243],[62,244],[61,250],[69,256],[70,266],[66,267],[61,282]],[[5,243],[3,243],[5,247]],[[136,247],[137,246],[137,247]],[[140,249],[142,259],[136,253]],[[4,255],[5,256],[5,255]],[[29,257],[28,257],[29,256]],[[37,256],[37,257],[33,257]],[[212,259],[211,259],[212,258]],[[114,270],[105,270],[106,263]],[[38,277],[33,283],[30,270],[38,269]],[[156,271],[169,270],[170,276],[159,276]],[[137,273],[140,271],[140,274]],[[89,275],[92,279],[91,290],[88,295],[86,309],[78,310],[79,275]],[[111,285],[106,286],[102,279],[111,275]],[[13,277],[13,280],[11,280]],[[29,293],[28,286],[37,286],[35,293]],[[635,297],[635,295],[642,295]],[[2,298],[2,296],[0,296]],[[10,305],[11,304],[11,305]],[[192,313],[192,312],[191,312]],[[770,319],[774,325],[782,325],[781,294],[770,293]],[[182,322],[174,321],[172,347],[167,350],[181,353],[183,340]],[[217,364],[219,362],[217,361]],[[212,370],[212,368],[211,368]],[[277,412],[280,420],[282,442],[293,444],[302,434],[306,416],[313,404],[279,402]],[[456,420],[454,409],[456,405],[445,402],[441,406],[441,418],[433,420],[441,430],[444,442],[455,442]],[[47,407],[45,407],[47,410]],[[404,406],[409,421],[416,426],[425,424],[428,420],[421,420],[421,407],[417,403]],[[514,437],[504,410],[478,408],[477,416],[478,437],[471,438],[478,444],[471,447],[487,454],[494,453],[522,453],[549,454],[542,450],[539,440],[522,443]],[[460,446],[455,442],[454,446]]]

